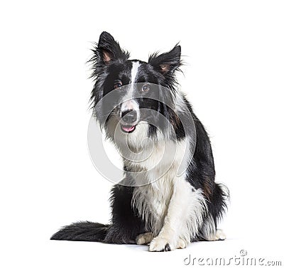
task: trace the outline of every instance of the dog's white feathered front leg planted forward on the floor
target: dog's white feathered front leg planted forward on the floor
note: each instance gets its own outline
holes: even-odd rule
[[[185,248],[190,237],[202,223],[204,197],[183,178],[173,182],[173,194],[163,228],[150,243],[150,251],[169,251]]]

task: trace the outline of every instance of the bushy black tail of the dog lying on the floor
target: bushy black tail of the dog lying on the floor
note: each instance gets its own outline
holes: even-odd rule
[[[109,224],[104,225],[97,222],[80,221],[62,227],[57,233],[51,236],[50,240],[102,242],[107,236],[109,227]]]

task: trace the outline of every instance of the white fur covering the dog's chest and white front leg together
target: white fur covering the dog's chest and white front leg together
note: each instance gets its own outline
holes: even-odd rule
[[[132,169],[144,171],[136,175],[136,180],[139,176],[146,176],[151,182],[136,186],[132,199],[132,206],[146,221],[148,231],[156,236],[150,244],[151,251],[162,250],[164,243],[168,243],[172,250],[185,248],[202,224],[202,213],[206,210],[202,191],[193,189],[185,180],[185,174],[177,176],[186,143],[187,139],[182,142],[168,141],[164,147],[155,144],[151,156],[143,162],[128,163]],[[169,153],[173,152],[173,148],[176,154]],[[161,156],[164,149],[169,150],[165,157]]]

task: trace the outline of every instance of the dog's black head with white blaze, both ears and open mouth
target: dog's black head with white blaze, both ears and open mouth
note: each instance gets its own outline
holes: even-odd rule
[[[91,100],[94,116],[108,137],[113,139],[115,133],[156,137],[157,130],[168,132],[168,122],[178,125],[173,103],[180,46],[152,54],[148,63],[129,60],[129,53],[103,32],[93,52]]]

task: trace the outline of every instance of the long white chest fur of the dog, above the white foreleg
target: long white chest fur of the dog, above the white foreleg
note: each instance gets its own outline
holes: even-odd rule
[[[138,210],[146,222],[146,227],[154,234],[158,234],[163,226],[176,184],[178,181],[184,181],[180,177],[177,178],[177,174],[185,154],[185,143],[183,141],[155,144],[153,148],[144,150],[145,156],[141,158],[142,161],[126,162],[131,172],[144,172],[135,174],[134,180],[145,182],[145,179],[139,179],[139,176],[146,176],[150,183],[135,187],[132,206]]]

